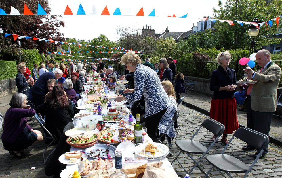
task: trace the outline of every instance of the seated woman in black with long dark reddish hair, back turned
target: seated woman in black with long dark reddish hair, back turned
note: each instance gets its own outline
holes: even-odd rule
[[[53,87],[51,97],[47,97],[46,102],[37,106],[35,111],[46,116],[44,125],[57,141],[60,140],[66,124],[72,122],[73,118],[70,100],[58,85]]]

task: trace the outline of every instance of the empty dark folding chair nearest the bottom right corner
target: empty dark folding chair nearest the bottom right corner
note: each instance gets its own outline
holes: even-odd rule
[[[260,153],[254,160],[254,162],[251,164],[251,166],[243,163],[241,160],[231,155],[223,154],[234,137],[239,138],[240,140],[248,143],[249,145],[261,149]],[[212,171],[213,167],[216,167],[224,177],[226,176],[224,175],[223,172],[226,172],[226,174],[229,177],[233,177],[232,175],[230,175],[230,173],[245,173],[243,178],[247,177],[248,173],[251,171],[252,167],[258,161],[263,151],[267,148],[268,143],[269,143],[269,138],[267,135],[247,127],[240,127],[235,131],[235,133],[229,140],[228,144],[225,146],[225,148],[222,150],[220,154],[208,155],[206,157],[207,161],[212,164],[212,167],[206,173],[205,177],[209,177],[208,175]]]

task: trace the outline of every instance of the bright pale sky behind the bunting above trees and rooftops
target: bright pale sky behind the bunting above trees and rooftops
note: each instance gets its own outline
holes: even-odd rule
[[[134,2],[134,3],[133,3]],[[225,0],[222,0],[225,2]],[[219,9],[218,0],[142,0],[142,1],[94,1],[94,0],[49,0],[51,14],[63,14],[68,5],[77,14],[81,3],[86,14],[92,13],[92,7],[99,15],[62,15],[65,27],[60,28],[65,38],[76,38],[80,40],[92,40],[100,34],[106,35],[110,40],[118,39],[117,28],[119,26],[146,28],[146,24],[155,29],[155,33],[163,33],[165,28],[171,32],[186,32],[191,30],[193,23],[196,25],[203,16],[213,16],[213,8]],[[107,5],[111,15],[100,15]],[[122,16],[113,16],[115,9],[119,7]],[[143,7],[144,16],[135,16]],[[161,17],[148,17],[155,9],[155,15]],[[176,17],[188,13],[188,18],[169,18],[168,15],[175,14]],[[134,15],[134,16],[125,16]],[[189,19],[192,18],[192,19]]]

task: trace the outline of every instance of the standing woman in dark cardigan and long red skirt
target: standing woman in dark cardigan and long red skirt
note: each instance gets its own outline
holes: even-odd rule
[[[228,51],[220,52],[217,55],[218,69],[212,71],[209,89],[212,93],[212,104],[210,118],[222,123],[225,126],[221,142],[228,143],[227,134],[233,134],[239,124],[237,121],[235,70],[228,68],[231,54]],[[216,135],[213,136],[213,141]]]

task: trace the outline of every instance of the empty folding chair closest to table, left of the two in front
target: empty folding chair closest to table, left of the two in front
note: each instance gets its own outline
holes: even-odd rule
[[[199,132],[199,130],[204,127],[206,128],[208,131],[212,132],[213,134],[217,135],[216,139],[214,140],[214,142],[212,142],[210,144],[210,146],[208,148],[206,148],[204,145],[202,145],[200,142],[198,141],[193,141],[192,139],[194,138],[194,136]],[[180,148],[180,152],[179,154],[176,156],[176,158],[172,161],[172,163],[176,160],[180,166],[182,167],[182,169],[184,169],[184,171],[187,174],[191,174],[191,172],[193,171],[193,169],[197,166],[199,167],[203,173],[206,174],[206,172],[204,171],[204,169],[199,165],[200,161],[203,159],[203,157],[206,154],[209,154],[209,150],[212,148],[212,146],[216,143],[216,141],[218,140],[218,138],[222,135],[223,131],[224,131],[224,125],[209,118],[204,120],[204,122],[201,124],[201,126],[198,128],[198,130],[195,132],[195,134],[190,138],[190,140],[176,140],[175,144],[178,148]],[[193,168],[190,170],[190,172],[188,173],[186,171],[186,169],[181,165],[181,163],[178,161],[177,157],[183,152],[186,152],[186,154],[194,161],[194,163],[196,163]],[[190,154],[202,154],[201,158],[196,161]]]

